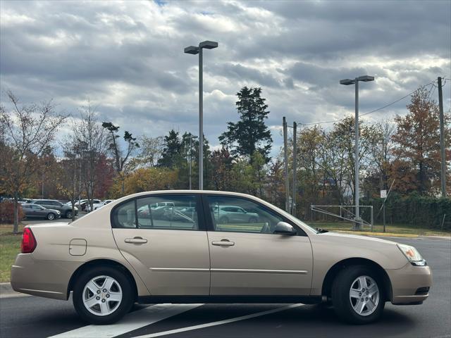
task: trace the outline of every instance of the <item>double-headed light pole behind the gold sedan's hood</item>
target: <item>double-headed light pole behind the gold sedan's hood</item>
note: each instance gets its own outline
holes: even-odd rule
[[[340,80],[340,84],[345,84],[346,86],[350,84],[355,84],[355,159],[354,159],[354,170],[355,170],[355,182],[354,182],[354,192],[355,192],[355,223],[354,229],[360,230],[362,227],[362,220],[360,219],[359,213],[359,81],[369,82],[374,81],[373,76],[364,75],[356,77],[354,80],[345,79]]]

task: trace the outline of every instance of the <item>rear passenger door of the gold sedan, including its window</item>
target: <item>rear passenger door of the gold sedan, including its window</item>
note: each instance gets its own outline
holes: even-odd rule
[[[161,194],[113,208],[118,249],[152,295],[209,294],[209,245],[199,201],[196,194]],[[156,204],[173,210],[155,213]],[[194,209],[185,214],[183,208]]]

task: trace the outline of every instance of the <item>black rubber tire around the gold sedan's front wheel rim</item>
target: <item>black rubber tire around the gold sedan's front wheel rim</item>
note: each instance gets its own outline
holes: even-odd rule
[[[353,286],[354,281],[361,276],[370,277],[374,282],[376,282],[376,286],[379,291],[376,307],[372,313],[366,315],[362,315],[357,313],[357,311],[354,311],[353,305],[355,305],[355,303],[353,304],[352,301],[355,302],[357,300],[350,299],[350,289]],[[367,324],[381,318],[383,308],[385,306],[383,283],[381,282],[381,278],[366,265],[352,265],[341,270],[333,281],[331,291],[335,313],[337,313],[338,317],[342,318],[342,320],[352,324]],[[368,290],[366,289],[366,291]],[[364,300],[368,299],[365,298],[365,292],[362,297]],[[365,308],[366,306],[364,306],[364,309]],[[365,311],[368,311],[368,308],[366,308]]]

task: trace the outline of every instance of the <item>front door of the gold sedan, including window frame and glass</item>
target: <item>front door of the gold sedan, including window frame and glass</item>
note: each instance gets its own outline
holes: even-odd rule
[[[257,223],[220,224],[211,206],[240,206],[258,215]],[[288,221],[272,209],[242,197],[204,196],[211,260],[210,294],[309,295],[312,251],[309,237],[297,227],[297,235],[273,234],[280,221]],[[296,225],[294,225],[296,227]]]

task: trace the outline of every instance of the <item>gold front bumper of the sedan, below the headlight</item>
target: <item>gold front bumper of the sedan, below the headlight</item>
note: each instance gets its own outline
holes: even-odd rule
[[[432,272],[428,266],[407,263],[400,269],[385,270],[392,284],[392,303],[404,305],[421,303],[428,298],[432,286]]]

